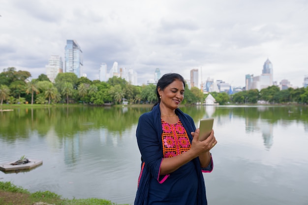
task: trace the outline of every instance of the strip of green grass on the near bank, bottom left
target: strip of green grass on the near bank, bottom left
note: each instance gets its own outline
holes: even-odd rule
[[[0,205],[117,205],[105,199],[62,199],[50,191],[30,193],[11,182],[0,181]]]

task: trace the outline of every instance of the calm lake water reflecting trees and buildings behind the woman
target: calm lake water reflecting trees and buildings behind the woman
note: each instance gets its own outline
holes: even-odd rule
[[[13,108],[0,112],[0,164],[43,164],[4,173],[30,192],[133,204],[140,172],[139,116],[151,107]],[[204,173],[209,205],[308,205],[307,106],[183,106],[196,124],[214,118],[218,144]]]

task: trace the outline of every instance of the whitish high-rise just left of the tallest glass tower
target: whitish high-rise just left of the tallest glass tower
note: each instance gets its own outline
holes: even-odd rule
[[[46,76],[51,82],[55,82],[57,75],[63,72],[62,57],[59,55],[51,55],[48,60],[48,65],[46,65],[45,68]]]

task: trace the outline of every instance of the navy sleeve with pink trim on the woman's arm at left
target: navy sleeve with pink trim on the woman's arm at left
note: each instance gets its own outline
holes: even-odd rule
[[[161,142],[158,140],[158,131],[154,127],[153,117],[149,113],[139,118],[136,136],[141,157],[154,179],[164,182],[169,175],[159,176],[160,165],[163,160]]]

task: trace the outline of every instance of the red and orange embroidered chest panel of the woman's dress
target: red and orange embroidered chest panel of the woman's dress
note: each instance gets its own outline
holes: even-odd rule
[[[181,121],[173,125],[161,120],[161,126],[164,158],[185,153],[190,149],[190,141]]]

